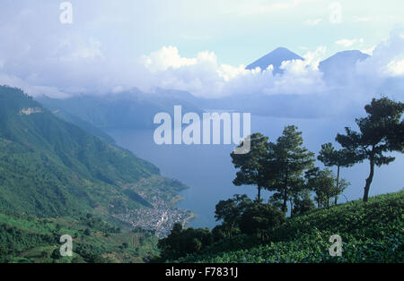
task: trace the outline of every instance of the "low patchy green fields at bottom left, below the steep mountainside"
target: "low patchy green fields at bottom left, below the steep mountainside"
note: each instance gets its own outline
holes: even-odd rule
[[[73,238],[73,256],[61,257],[60,236]],[[157,252],[157,237],[128,231],[101,219],[37,218],[0,214],[0,262],[146,262]]]

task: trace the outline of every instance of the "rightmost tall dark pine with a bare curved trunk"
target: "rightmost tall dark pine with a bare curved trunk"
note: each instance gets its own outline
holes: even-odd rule
[[[394,157],[384,155],[386,152],[404,152],[404,122],[401,120],[404,103],[390,98],[373,98],[364,110],[367,116],[356,119],[359,132],[346,128],[346,134],[338,133],[336,140],[343,148],[356,154],[356,163],[369,160],[370,172],[364,185],[364,201],[367,201],[374,166],[394,161]]]

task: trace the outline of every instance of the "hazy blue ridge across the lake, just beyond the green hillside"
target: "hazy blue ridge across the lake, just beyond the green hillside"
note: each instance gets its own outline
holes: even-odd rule
[[[180,105],[187,112],[200,112],[186,92],[156,89],[148,94],[139,89],[131,89],[105,96],[76,96],[72,98],[36,98],[49,110],[58,114],[75,116],[97,128],[144,129],[154,127],[154,115],[173,111]],[[69,120],[70,121],[70,120]]]

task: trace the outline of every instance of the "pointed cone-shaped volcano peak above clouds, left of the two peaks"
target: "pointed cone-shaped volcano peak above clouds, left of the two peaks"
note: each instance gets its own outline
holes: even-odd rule
[[[260,57],[257,61],[247,65],[246,69],[251,70],[259,67],[262,71],[267,69],[269,65],[274,66],[274,74],[283,73],[280,69],[282,62],[290,60],[304,60],[302,56],[294,54],[285,47],[278,47],[267,55]]]

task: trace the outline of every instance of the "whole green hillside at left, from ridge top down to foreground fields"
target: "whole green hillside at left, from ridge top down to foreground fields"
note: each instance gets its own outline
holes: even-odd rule
[[[155,198],[170,208],[186,186],[91,124],[56,114],[0,87],[0,262],[150,260],[158,253],[153,231],[116,215],[154,209]],[[64,234],[72,257],[60,256]]]

